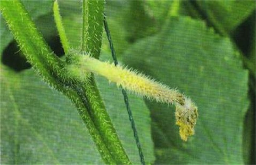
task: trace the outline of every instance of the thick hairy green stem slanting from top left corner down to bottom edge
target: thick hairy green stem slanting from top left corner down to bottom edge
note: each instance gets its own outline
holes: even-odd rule
[[[115,142],[120,141],[117,135],[113,134],[115,130],[106,110],[102,108],[102,101],[99,104],[94,102],[99,100],[95,99],[99,94],[93,76],[84,84],[65,70],[65,62],[61,61],[46,44],[20,1],[1,1],[0,10],[33,68],[46,83],[67,95],[74,103],[105,163],[130,163],[122,146],[116,147]],[[94,110],[96,106],[99,106],[98,111]]]

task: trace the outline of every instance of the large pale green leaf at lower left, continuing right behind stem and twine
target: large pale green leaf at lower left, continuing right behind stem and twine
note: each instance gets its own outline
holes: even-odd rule
[[[97,84],[122,143],[139,163],[122,94],[97,77]],[[149,110],[130,96],[145,158],[154,161]],[[4,164],[102,164],[100,154],[76,108],[50,89],[32,70],[19,74],[1,66],[1,161]]]

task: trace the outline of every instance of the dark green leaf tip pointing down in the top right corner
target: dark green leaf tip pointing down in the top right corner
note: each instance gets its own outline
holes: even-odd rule
[[[207,20],[221,33],[230,34],[255,10],[254,1],[197,1]]]

